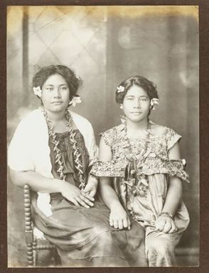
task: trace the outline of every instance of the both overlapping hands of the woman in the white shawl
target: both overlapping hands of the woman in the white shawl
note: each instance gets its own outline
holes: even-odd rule
[[[97,184],[96,177],[89,176],[84,190],[81,191],[77,186],[66,183],[61,193],[63,194],[63,197],[68,199],[75,206],[90,208],[94,206],[94,196],[97,191]]]

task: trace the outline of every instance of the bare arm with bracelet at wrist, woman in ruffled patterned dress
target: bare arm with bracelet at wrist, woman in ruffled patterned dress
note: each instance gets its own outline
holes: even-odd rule
[[[169,160],[180,159],[178,143],[171,147],[171,150],[168,152],[168,158]],[[178,177],[170,177],[163,211],[171,213],[174,216],[178,209],[178,205],[181,202],[182,192],[183,189],[181,179]],[[177,230],[174,221],[169,216],[164,214],[159,216],[159,218],[156,220],[156,229],[163,231],[164,233],[173,233]]]

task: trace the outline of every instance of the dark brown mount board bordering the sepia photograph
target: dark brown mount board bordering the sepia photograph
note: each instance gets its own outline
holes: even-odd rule
[[[7,267],[7,216],[6,216],[6,7],[7,6],[47,6],[47,5],[194,5],[199,6],[199,41],[200,41],[200,266],[199,267],[171,267],[171,268],[8,268]],[[182,273],[208,273],[209,272],[209,2],[208,1],[4,1],[0,2],[0,128],[1,128],[1,190],[0,190],[0,272],[182,272]],[[15,83],[14,83],[15,84]]]

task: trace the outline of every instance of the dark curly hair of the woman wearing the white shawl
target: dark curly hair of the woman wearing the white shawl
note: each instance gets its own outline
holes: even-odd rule
[[[70,99],[75,96],[78,88],[82,85],[82,79],[77,77],[75,72],[65,65],[48,65],[42,67],[33,77],[33,87],[43,87],[43,84],[53,74],[60,74],[63,76],[70,89]]]

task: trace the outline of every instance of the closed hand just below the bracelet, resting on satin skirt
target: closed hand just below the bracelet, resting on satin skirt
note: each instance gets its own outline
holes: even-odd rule
[[[155,222],[156,230],[164,233],[175,233],[177,231],[176,224],[173,219],[166,215],[161,215]]]

